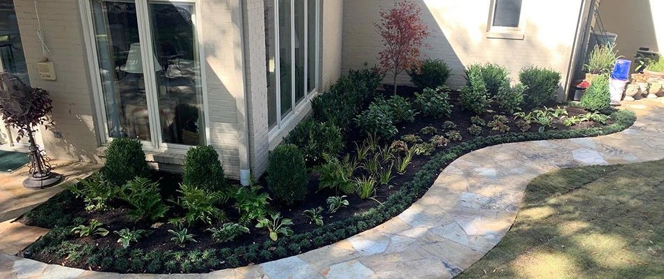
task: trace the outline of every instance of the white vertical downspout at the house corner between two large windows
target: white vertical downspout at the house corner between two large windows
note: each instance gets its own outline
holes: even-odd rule
[[[250,175],[251,175],[251,164],[250,164],[250,148],[249,148],[249,121],[248,121],[248,109],[247,105],[247,96],[250,92],[247,92],[247,86],[245,86],[246,72],[245,72],[245,34],[244,30],[244,21],[242,17],[242,0],[233,0],[233,7],[231,7],[231,17],[235,17],[234,22],[238,24],[232,24],[233,32],[239,34],[239,36],[233,36],[233,44],[240,46],[240,56],[235,58],[236,63],[236,73],[238,73],[238,66],[242,77],[236,80],[238,82],[238,92],[241,92],[236,98],[236,105],[238,106],[238,147],[240,152],[240,183],[243,186],[248,186],[250,184]]]

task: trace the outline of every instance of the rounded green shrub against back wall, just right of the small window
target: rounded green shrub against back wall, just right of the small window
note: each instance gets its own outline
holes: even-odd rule
[[[561,73],[536,66],[521,69],[519,81],[526,86],[524,103],[526,107],[539,107],[547,103],[558,91]]]

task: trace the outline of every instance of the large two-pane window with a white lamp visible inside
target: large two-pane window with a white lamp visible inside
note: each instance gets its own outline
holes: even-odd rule
[[[89,3],[106,136],[205,144],[194,3]]]

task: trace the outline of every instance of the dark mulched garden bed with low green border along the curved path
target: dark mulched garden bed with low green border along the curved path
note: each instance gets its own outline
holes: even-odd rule
[[[392,92],[391,88],[389,86],[384,87],[384,91],[381,91],[381,93],[384,96],[390,96]],[[410,98],[411,100],[414,98],[413,88],[400,86],[399,89],[400,96]],[[293,221],[294,225],[291,225],[291,229],[295,233],[294,236],[280,236],[278,241],[271,241],[266,229],[255,228],[253,227],[255,224],[252,223],[252,225],[247,226],[250,229],[250,234],[242,234],[231,243],[216,243],[212,239],[210,232],[205,232],[205,229],[209,227],[220,227],[222,224],[216,223],[213,226],[189,227],[189,232],[196,235],[195,239],[197,242],[187,243],[185,248],[180,248],[171,241],[172,235],[167,232],[168,229],[175,229],[173,225],[166,224],[165,220],[167,218],[164,219],[164,224],[135,223],[133,220],[127,218],[127,208],[122,204],[115,204],[117,208],[110,211],[87,212],[84,209],[85,204],[81,200],[75,199],[73,194],[64,191],[17,220],[25,225],[49,229],[56,227],[66,228],[60,229],[60,234],[63,235],[57,236],[57,233],[51,232],[49,234],[52,234],[52,236],[47,235],[44,239],[36,241],[33,246],[24,251],[24,257],[49,264],[120,273],[208,272],[268,262],[273,259],[297,255],[301,252],[326,246],[363,230],[380,225],[385,220],[398,215],[398,213],[402,212],[412,202],[426,193],[426,190],[433,184],[435,177],[445,165],[451,163],[454,159],[463,155],[463,153],[505,142],[614,133],[626,128],[634,121],[632,118],[624,120],[621,123],[616,123],[616,119],[610,119],[603,124],[589,121],[571,127],[563,125],[560,121],[556,121],[544,133],[538,132],[539,126],[533,123],[528,133],[521,133],[513,121],[514,116],[512,114],[494,109],[482,116],[482,119],[488,123],[493,120],[494,115],[505,115],[510,119],[510,123],[507,124],[510,126],[510,131],[516,133],[500,133],[485,126],[482,135],[475,137],[470,135],[467,130],[471,125],[470,118],[474,114],[461,110],[458,99],[458,93],[450,93],[450,101],[454,105],[454,108],[452,116],[449,118],[435,119],[419,114],[416,116],[414,123],[400,123],[397,125],[399,133],[395,137],[396,139],[402,135],[417,135],[421,128],[427,126],[433,126],[441,130],[443,122],[452,121],[456,123],[463,140],[451,142],[444,147],[438,147],[432,156],[414,156],[412,164],[408,167],[405,174],[397,174],[390,181],[389,186],[378,186],[376,188],[375,199],[360,199],[358,195],[349,195],[347,197],[349,206],[339,209],[336,213],[329,214],[326,211],[328,207],[326,198],[334,196],[335,193],[330,189],[318,190],[318,174],[316,171],[312,171],[310,172],[308,196],[305,202],[295,204],[294,206],[282,206],[275,202],[270,202],[273,210],[280,212],[282,217]],[[557,106],[556,103],[549,105],[549,107]],[[417,109],[417,105],[414,105],[414,108]],[[565,108],[569,116],[586,114],[586,110],[579,107],[565,105]],[[432,135],[420,136],[424,142],[427,142]],[[364,133],[359,128],[349,131],[347,133],[347,143],[344,153],[354,156],[356,142],[362,142],[363,140]],[[381,144],[390,143],[391,141],[383,141]],[[357,174],[363,174],[365,171],[359,169],[356,172]],[[394,173],[396,174],[396,172]],[[179,187],[178,183],[182,181],[181,176],[164,172],[153,172],[153,181],[157,180],[159,180],[161,195],[164,200],[177,198],[175,190]],[[229,183],[238,182],[229,181]],[[264,176],[259,179],[258,183],[263,186],[261,191],[267,192],[266,177]],[[323,211],[325,223],[323,227],[310,224],[310,220],[303,216],[304,210],[314,209],[318,206],[325,209]],[[381,209],[381,206],[385,206],[386,210],[376,210]],[[182,212],[178,212],[178,209],[174,206],[171,211],[168,211],[167,217],[182,216]],[[237,220],[238,213],[235,209],[225,208],[224,211],[229,220]],[[103,237],[85,236],[79,238],[74,234],[65,233],[71,230],[71,227],[80,225],[81,223],[87,224],[92,219],[103,223],[103,227],[108,229],[110,234]],[[113,234],[114,231],[120,231],[120,229],[124,228],[146,229],[152,231],[152,233],[140,239],[138,243],[133,243],[128,250],[124,250],[121,244],[116,242],[117,235]],[[57,239],[57,241],[54,241],[54,239]],[[59,247],[56,247],[57,243],[60,243]],[[83,249],[85,246],[92,246],[95,248],[89,249],[100,249],[106,252],[100,252],[100,255],[97,256],[99,259],[91,260],[88,257],[89,255],[80,255],[80,251],[85,251]],[[70,249],[71,251],[67,251],[66,249]],[[112,259],[108,259],[109,257]],[[117,263],[119,257],[127,257],[127,263],[123,263],[127,266]],[[212,257],[219,260],[211,259]],[[168,264],[169,261],[177,262],[176,264]]]

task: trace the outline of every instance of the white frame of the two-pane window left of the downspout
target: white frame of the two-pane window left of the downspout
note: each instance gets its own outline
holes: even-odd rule
[[[87,63],[89,68],[89,73],[92,77],[92,91],[93,98],[96,110],[96,120],[99,123],[97,125],[97,132],[99,133],[99,140],[102,145],[107,145],[113,138],[108,135],[108,121],[106,116],[106,104],[103,102],[103,89],[101,74],[99,73],[99,55],[96,50],[96,40],[94,38],[94,22],[92,20],[92,4],[91,1],[96,0],[79,0],[79,10],[81,13],[81,19],[83,24],[83,36],[85,39],[85,47],[87,50]],[[148,13],[148,5],[154,2],[163,2],[163,3],[183,3],[187,5],[194,6],[194,19],[192,20],[196,32],[194,33],[194,40],[196,40],[196,47],[198,51],[199,59],[199,70],[200,70],[200,82],[202,97],[203,98],[203,119],[204,121],[204,130],[205,130],[205,142],[202,142],[201,145],[208,144],[210,142],[210,115],[208,110],[208,88],[206,82],[206,73],[205,73],[205,53],[203,48],[203,43],[201,38],[203,38],[203,29],[201,21],[201,4],[197,3],[196,0],[131,0],[131,1],[122,1],[122,0],[108,0],[108,1],[118,1],[118,2],[128,2],[136,3],[136,17],[138,20],[138,38],[141,42],[140,51],[142,53],[154,53],[152,50],[153,41],[152,41],[152,31],[150,29],[150,15]],[[150,121],[150,140],[144,141],[141,140],[143,144],[143,149],[146,151],[187,151],[192,146],[185,144],[172,144],[166,143],[163,141],[163,135],[161,135],[161,116],[159,115],[159,100],[157,96],[158,89],[157,83],[154,79],[156,74],[154,74],[154,55],[143,55],[143,65],[147,67],[147,70],[143,74],[145,80],[145,95],[147,98],[147,113]]]

